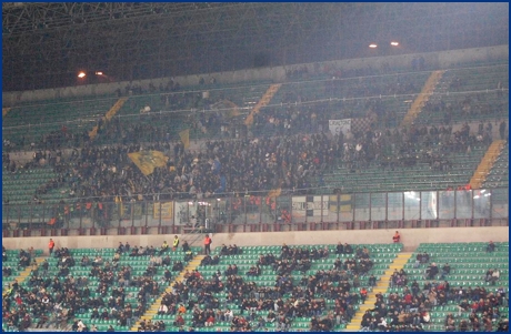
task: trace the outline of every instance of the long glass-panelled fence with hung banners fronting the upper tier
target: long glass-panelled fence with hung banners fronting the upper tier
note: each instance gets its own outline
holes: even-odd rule
[[[507,188],[4,205],[4,237],[508,225]]]

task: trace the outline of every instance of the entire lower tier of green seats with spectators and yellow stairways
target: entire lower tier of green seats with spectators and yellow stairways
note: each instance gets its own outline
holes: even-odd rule
[[[31,250],[2,328],[491,332],[509,314],[508,242],[182,249]]]

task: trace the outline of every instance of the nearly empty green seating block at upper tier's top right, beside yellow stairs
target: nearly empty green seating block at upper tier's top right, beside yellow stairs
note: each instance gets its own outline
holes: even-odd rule
[[[458,120],[485,123],[507,119],[508,73],[509,64],[482,64],[445,71],[415,124],[445,124]]]

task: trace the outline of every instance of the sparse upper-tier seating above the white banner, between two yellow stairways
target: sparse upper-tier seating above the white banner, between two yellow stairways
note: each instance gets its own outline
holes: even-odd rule
[[[370,117],[378,118],[374,129],[394,128],[428,77],[429,72],[411,72],[283,83],[270,105],[261,109],[252,131],[257,135],[317,132],[320,126],[327,130],[329,120]]]

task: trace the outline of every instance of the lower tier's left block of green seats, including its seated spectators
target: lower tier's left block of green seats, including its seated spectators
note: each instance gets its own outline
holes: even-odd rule
[[[56,249],[54,256],[39,256],[34,265],[29,256],[30,265],[18,266],[27,270],[17,283],[4,289],[2,328],[129,331],[199,251],[127,243],[118,249]],[[3,261],[2,270],[12,261]]]

